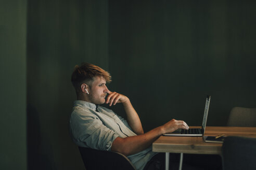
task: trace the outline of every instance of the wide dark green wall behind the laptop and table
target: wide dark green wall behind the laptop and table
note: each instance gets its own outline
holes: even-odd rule
[[[132,98],[146,130],[172,118],[226,125],[256,107],[254,1],[109,1],[111,86]],[[119,111],[120,109],[118,109]]]

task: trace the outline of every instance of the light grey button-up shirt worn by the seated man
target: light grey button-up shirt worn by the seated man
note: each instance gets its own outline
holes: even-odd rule
[[[117,137],[135,136],[125,119],[105,107],[98,107],[85,101],[75,101],[70,117],[70,134],[74,143],[81,147],[111,151]],[[136,169],[143,169],[155,155],[151,148],[127,158]]]

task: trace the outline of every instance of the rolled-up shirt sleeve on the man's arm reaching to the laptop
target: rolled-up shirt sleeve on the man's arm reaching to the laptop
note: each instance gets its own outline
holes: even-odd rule
[[[119,137],[93,114],[73,113],[70,128],[72,138],[77,145],[84,143],[93,149],[110,150],[114,139]]]

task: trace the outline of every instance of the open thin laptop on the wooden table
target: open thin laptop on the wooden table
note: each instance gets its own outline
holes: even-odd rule
[[[210,105],[211,96],[206,96],[206,106],[204,107],[203,113],[203,120],[202,120],[202,127],[201,128],[194,128],[194,129],[178,129],[172,133],[165,133],[164,136],[203,136],[204,130],[206,129],[206,121],[208,116],[208,110]]]

